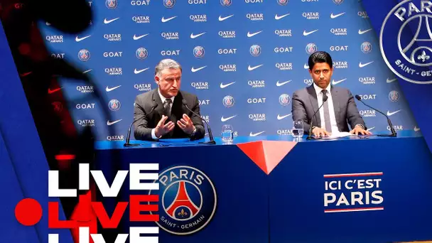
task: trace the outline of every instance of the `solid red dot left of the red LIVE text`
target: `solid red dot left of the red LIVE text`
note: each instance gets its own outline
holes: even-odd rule
[[[33,198],[26,198],[18,202],[15,207],[15,217],[21,225],[36,225],[42,217],[42,207]]]

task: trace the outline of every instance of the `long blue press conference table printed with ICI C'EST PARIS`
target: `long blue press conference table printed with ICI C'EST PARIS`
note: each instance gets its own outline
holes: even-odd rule
[[[419,131],[325,141],[306,136],[201,141],[131,141],[144,144],[130,148],[124,141],[96,144],[97,168],[107,174],[127,170],[129,163],[159,163],[160,173],[190,166],[212,181],[217,207],[210,222],[187,235],[161,229],[159,242],[432,239],[432,156]],[[207,203],[211,193],[201,193]],[[129,191],[122,195],[127,200]],[[124,230],[131,224],[124,222]]]

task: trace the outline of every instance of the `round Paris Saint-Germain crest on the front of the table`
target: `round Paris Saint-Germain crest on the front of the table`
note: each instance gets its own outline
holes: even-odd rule
[[[215,186],[205,173],[190,166],[174,166],[159,175],[159,227],[171,234],[200,231],[215,215]]]

